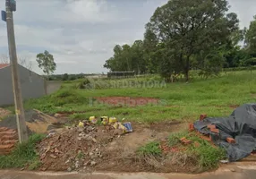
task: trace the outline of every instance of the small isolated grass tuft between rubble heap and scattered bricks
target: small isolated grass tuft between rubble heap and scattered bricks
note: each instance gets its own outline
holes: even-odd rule
[[[138,149],[138,153],[141,156],[160,157],[162,154],[162,150],[159,148],[159,146],[159,142],[151,141],[145,146],[142,146],[140,149]]]

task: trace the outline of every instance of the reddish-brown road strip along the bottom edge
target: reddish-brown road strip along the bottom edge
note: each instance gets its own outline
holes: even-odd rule
[[[204,173],[201,175],[183,174],[111,174],[111,173],[41,173],[41,172],[21,172],[13,170],[0,171],[0,179],[253,179],[256,175],[256,166],[225,166],[216,172]]]

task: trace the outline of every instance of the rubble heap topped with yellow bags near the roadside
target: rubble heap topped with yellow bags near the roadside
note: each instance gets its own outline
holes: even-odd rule
[[[115,117],[91,116],[78,125],[66,127],[62,133],[49,133],[38,144],[41,170],[90,171],[107,156],[108,143],[132,132],[131,123],[118,122]]]

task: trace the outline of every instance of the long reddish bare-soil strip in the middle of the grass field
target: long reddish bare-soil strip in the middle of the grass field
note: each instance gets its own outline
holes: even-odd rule
[[[118,107],[137,107],[148,104],[157,105],[159,103],[158,98],[98,97],[96,99],[99,103]]]

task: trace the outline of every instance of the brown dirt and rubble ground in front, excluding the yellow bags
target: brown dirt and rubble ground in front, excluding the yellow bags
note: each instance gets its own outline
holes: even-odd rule
[[[66,127],[38,144],[42,166],[46,171],[109,171],[109,172],[194,172],[189,162],[177,164],[171,159],[141,158],[139,147],[149,141],[166,141],[170,132],[187,124],[165,122],[132,123],[133,132],[123,134],[111,126],[87,125],[84,128]]]

